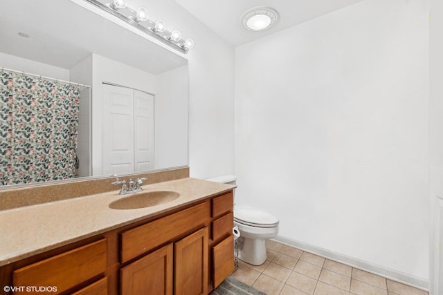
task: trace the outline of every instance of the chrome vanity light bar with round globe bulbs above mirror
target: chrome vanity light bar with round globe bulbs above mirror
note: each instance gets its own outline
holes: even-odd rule
[[[186,40],[181,39],[181,33],[178,30],[172,30],[172,32],[166,30],[164,21],[159,19],[158,21],[154,22],[148,19],[146,8],[138,8],[138,10],[135,11],[126,5],[116,5],[115,0],[114,3],[109,4],[103,4],[98,0],[84,1],[92,4],[96,8],[100,8],[101,10],[108,12],[111,15],[114,15],[115,17],[118,17],[118,19],[125,21],[125,23],[129,23],[134,28],[141,30],[150,37],[154,37],[156,40],[161,41],[163,44],[166,44],[174,48],[175,50],[178,50],[180,53],[186,54],[188,53],[190,48],[194,47],[194,41],[190,38]],[[125,2],[125,0],[119,0],[117,2],[123,3]],[[120,9],[127,9],[130,12],[134,13],[134,16],[126,17],[122,13],[118,12],[118,10]],[[147,23],[147,26],[141,25],[141,21]]]

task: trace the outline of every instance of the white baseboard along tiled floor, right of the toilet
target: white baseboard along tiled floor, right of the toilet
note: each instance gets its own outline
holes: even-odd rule
[[[409,285],[411,287],[422,289],[424,291],[429,291],[429,281],[424,278],[410,276],[409,274],[404,274],[403,272],[398,272],[393,269],[388,269],[386,267],[374,265],[372,263],[369,263],[368,261],[360,260],[358,258],[353,258],[350,256],[345,256],[343,254],[339,254],[334,251],[329,251],[327,249],[309,245],[304,242],[292,240],[291,238],[286,238],[284,236],[277,236],[277,238],[273,238],[272,240],[275,240],[276,242],[281,242],[289,246],[296,247],[300,250],[307,251],[312,254],[316,254],[318,256],[322,256],[323,258],[327,258],[329,260],[334,260],[338,263],[349,265],[350,267],[361,269],[365,272],[370,272],[372,274],[377,274],[379,276],[383,276],[384,278],[388,278],[390,280],[395,280],[398,283]]]

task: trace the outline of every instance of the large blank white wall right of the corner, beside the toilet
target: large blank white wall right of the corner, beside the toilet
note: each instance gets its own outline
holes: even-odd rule
[[[236,48],[237,204],[426,285],[427,30],[424,1],[371,0]]]

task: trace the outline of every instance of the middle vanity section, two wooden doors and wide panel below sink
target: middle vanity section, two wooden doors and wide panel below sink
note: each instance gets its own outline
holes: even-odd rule
[[[121,269],[121,294],[208,294],[209,220],[207,200],[121,233],[123,263],[148,253]]]

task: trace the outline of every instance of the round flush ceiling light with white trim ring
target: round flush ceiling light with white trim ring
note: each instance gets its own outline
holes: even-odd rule
[[[271,28],[278,19],[278,13],[269,7],[257,7],[248,10],[242,17],[245,28],[253,31]]]

